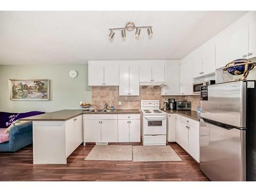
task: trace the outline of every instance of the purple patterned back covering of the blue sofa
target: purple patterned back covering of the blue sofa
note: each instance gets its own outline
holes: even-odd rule
[[[0,112],[0,127],[7,128],[9,127],[14,121],[18,119],[22,119],[25,117],[31,117],[35,115],[44,114],[45,112],[40,111],[31,111],[27,113],[6,113]]]

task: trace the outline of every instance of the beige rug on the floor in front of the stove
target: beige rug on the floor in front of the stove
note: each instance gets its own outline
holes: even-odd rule
[[[172,147],[133,146],[133,161],[182,161]]]

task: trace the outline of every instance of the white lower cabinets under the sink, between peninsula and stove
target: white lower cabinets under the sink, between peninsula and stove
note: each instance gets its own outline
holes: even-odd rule
[[[86,142],[140,142],[140,114],[86,114]]]

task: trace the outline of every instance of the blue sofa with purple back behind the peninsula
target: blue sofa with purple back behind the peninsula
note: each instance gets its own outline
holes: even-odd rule
[[[5,113],[5,112],[0,112],[0,127],[1,129],[4,128],[6,129],[8,125],[5,125],[6,122],[9,120],[10,114],[15,113]],[[25,118],[25,117],[30,117],[34,115],[39,115],[39,114],[44,114],[44,112],[28,112],[28,113],[19,113],[14,121],[20,119],[20,118]],[[4,127],[5,125],[5,127]],[[23,148],[33,142],[33,134],[32,134],[32,121],[22,123],[15,125],[9,133],[9,141],[6,141],[4,143],[0,143],[0,152],[16,152],[20,148]]]

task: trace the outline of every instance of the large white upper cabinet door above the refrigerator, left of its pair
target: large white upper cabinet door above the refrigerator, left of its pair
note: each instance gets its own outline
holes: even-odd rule
[[[248,26],[227,31],[216,42],[216,68],[225,67],[228,62],[247,58]]]

